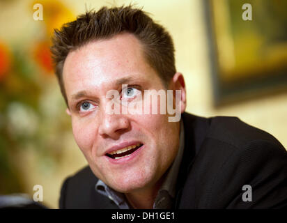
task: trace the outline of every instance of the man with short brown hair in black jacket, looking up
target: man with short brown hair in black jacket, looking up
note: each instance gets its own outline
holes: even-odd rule
[[[238,118],[185,113],[171,36],[142,10],[104,7],[81,15],[55,31],[52,54],[89,166],[65,180],[60,208],[287,206],[285,148]],[[161,90],[174,100],[180,92],[173,105],[181,121],[143,107],[123,112],[134,102],[159,111],[166,100],[146,102],[143,95]],[[111,91],[118,95],[109,97]],[[116,105],[120,112],[111,113]]]

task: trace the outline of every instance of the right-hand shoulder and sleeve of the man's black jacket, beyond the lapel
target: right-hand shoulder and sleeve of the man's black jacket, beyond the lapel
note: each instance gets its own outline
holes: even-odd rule
[[[180,208],[287,205],[287,153],[277,139],[235,117],[208,118],[205,128],[187,174]],[[252,188],[251,202],[242,201],[244,185]]]

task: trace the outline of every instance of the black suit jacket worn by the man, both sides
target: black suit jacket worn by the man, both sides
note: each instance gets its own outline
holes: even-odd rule
[[[287,152],[271,134],[235,117],[183,114],[185,151],[174,208],[284,208]],[[65,180],[60,208],[118,208],[95,192],[89,167]],[[242,201],[251,185],[252,201]]]

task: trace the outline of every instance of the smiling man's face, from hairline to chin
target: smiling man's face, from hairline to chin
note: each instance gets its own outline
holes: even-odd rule
[[[167,114],[108,114],[106,109],[110,90],[130,103],[143,90],[164,89],[137,38],[123,33],[70,52],[63,82],[72,132],[95,176],[119,192],[154,187],[176,157],[179,123],[169,122]],[[128,91],[121,92],[122,84]],[[123,148],[130,149],[125,157]],[[111,154],[115,151],[119,154]]]

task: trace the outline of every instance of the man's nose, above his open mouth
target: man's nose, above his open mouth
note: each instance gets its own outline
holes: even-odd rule
[[[130,128],[130,121],[127,116],[121,114],[103,114],[99,126],[99,134],[102,137],[117,139],[128,128]]]

